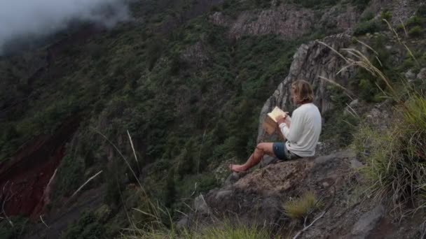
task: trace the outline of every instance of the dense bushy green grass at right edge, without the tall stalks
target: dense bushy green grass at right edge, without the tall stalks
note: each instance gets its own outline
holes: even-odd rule
[[[371,191],[392,198],[394,205],[426,196],[426,99],[412,96],[399,115],[385,131],[362,126],[355,134]]]

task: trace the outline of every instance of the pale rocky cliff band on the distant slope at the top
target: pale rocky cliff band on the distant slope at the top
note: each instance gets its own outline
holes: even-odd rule
[[[284,4],[277,8],[245,11],[235,20],[217,12],[210,15],[209,20],[214,24],[229,27],[228,34],[231,38],[277,34],[284,39],[295,39],[309,34],[313,29],[347,31],[355,26],[359,15],[357,8],[352,6],[336,6],[322,12]]]

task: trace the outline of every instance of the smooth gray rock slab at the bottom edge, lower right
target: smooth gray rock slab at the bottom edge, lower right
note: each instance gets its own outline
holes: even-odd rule
[[[367,238],[371,232],[376,229],[383,215],[385,215],[385,208],[383,208],[383,205],[378,205],[373,210],[366,212],[352,228],[351,238]]]

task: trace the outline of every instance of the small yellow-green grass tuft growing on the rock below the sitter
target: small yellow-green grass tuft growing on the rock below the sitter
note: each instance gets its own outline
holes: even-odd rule
[[[305,192],[300,198],[287,201],[282,205],[285,215],[291,219],[303,219],[321,206],[322,203],[317,201],[312,191]]]

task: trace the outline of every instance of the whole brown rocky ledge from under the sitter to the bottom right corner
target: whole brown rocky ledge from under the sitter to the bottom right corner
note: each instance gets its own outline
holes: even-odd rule
[[[324,207],[308,216],[299,238],[413,238],[422,220],[405,219],[392,224],[385,205],[355,185],[363,183],[357,168],[362,163],[351,150],[314,158],[271,164],[243,175],[237,182],[213,189],[195,199],[194,211],[181,226],[220,222],[223,218],[272,229],[282,238],[293,238],[303,222],[289,218],[283,203],[311,191]],[[365,200],[367,199],[367,200]]]

